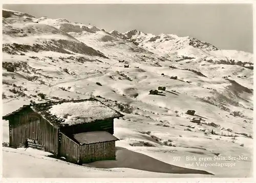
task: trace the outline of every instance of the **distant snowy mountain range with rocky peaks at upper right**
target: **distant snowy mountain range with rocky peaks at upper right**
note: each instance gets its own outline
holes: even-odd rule
[[[189,36],[178,37],[177,35],[165,33],[155,36],[138,30],[126,33],[112,31],[110,33],[170,60],[177,57],[200,58],[208,62],[253,68],[252,54],[237,50],[219,50],[214,45]]]

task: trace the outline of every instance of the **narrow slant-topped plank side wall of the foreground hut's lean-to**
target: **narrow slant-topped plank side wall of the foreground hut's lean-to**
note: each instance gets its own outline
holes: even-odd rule
[[[79,145],[61,132],[59,134],[59,155],[65,157],[69,162],[76,163],[79,161]]]

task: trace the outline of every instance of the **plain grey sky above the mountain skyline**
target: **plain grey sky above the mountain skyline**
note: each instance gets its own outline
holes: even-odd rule
[[[105,31],[133,29],[191,36],[219,49],[253,52],[250,4],[66,4],[3,5],[35,17],[91,23]]]

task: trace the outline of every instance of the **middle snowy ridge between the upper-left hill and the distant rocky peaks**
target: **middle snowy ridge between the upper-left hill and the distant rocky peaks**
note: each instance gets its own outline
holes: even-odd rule
[[[100,30],[93,25],[67,22],[67,20],[64,21],[62,19],[54,20],[44,18],[40,21],[39,18],[38,20],[40,23],[49,23],[53,27],[65,31],[77,40],[101,51],[101,53],[109,55],[111,59],[126,59],[126,62],[144,62],[144,60],[141,59],[144,55],[152,57],[154,61],[159,59],[159,56],[155,56],[150,51],[138,47],[129,41],[113,36],[112,34],[105,32],[104,30]],[[128,53],[126,54],[126,51],[123,52],[122,50],[126,50]]]

